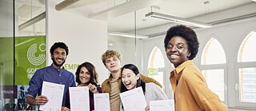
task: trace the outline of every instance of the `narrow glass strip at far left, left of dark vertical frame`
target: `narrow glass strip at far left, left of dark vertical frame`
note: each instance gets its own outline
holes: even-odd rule
[[[0,1],[0,109],[14,103],[14,2]],[[9,103],[9,104],[7,104]],[[10,108],[9,107],[9,108]]]

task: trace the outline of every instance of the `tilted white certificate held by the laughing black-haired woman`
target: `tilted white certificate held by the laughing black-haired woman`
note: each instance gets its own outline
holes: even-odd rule
[[[144,111],[146,108],[142,87],[120,93],[120,97],[125,111]]]

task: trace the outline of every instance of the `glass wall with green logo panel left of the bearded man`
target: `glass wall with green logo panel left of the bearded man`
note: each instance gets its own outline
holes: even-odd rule
[[[46,1],[1,0],[0,9],[0,110],[36,109],[25,94],[46,65]]]

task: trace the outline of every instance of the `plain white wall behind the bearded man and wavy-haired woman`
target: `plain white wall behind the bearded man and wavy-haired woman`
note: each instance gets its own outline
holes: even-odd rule
[[[72,9],[57,11],[54,9],[56,3],[52,1],[48,1],[47,5],[47,50],[54,42],[65,42],[70,50],[66,63],[89,61],[96,67],[101,84],[109,76],[101,60],[107,50],[106,22],[86,18]],[[50,65],[50,53],[47,57],[47,64]],[[75,70],[70,71],[74,73]]]

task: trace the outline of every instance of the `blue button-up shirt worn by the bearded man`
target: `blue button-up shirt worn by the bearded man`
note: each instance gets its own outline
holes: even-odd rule
[[[62,69],[62,71],[59,72],[54,65],[38,69],[30,80],[30,87],[27,89],[26,96],[32,96],[35,98],[37,93],[40,96],[42,94],[42,81],[65,85],[62,100],[62,106],[65,106],[66,91],[69,87],[75,86],[74,74],[66,69]]]

